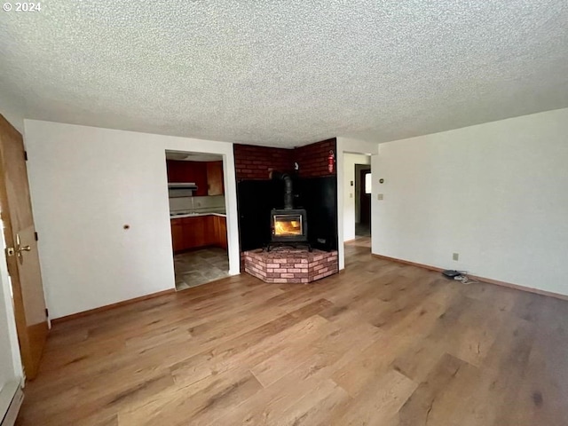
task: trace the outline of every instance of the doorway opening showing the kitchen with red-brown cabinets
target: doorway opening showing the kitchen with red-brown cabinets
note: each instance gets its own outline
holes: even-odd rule
[[[229,276],[223,156],[166,151],[176,289]]]

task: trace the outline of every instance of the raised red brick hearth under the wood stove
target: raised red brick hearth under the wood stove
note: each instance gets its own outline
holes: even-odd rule
[[[320,280],[339,271],[337,251],[274,248],[245,251],[245,272],[264,282],[302,282]]]

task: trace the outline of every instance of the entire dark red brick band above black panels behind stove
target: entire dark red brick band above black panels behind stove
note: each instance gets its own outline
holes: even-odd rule
[[[335,175],[327,170],[329,150],[335,154],[335,138],[294,149],[235,144],[233,146],[237,180],[268,179],[269,170],[291,171],[294,162],[300,166],[300,176]]]

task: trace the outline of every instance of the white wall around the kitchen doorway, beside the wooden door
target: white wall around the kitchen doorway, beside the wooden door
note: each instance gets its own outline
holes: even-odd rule
[[[166,149],[224,156],[229,273],[239,273],[233,144],[34,120],[25,128],[51,318],[174,288]]]

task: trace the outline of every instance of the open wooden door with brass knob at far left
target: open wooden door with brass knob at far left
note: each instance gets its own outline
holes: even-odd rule
[[[36,227],[29,200],[24,144],[18,130],[0,115],[0,209],[14,312],[26,377],[37,375],[49,331],[37,254]],[[15,252],[11,255],[10,249]]]

